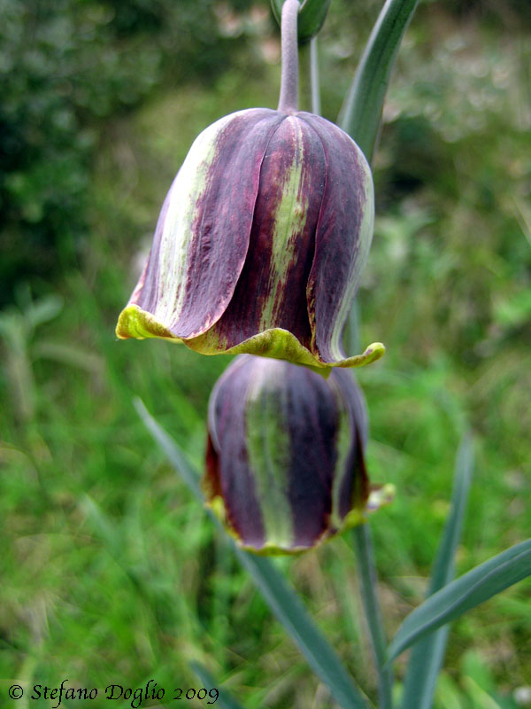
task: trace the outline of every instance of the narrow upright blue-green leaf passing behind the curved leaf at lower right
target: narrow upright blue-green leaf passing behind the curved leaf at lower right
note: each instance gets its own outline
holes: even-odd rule
[[[427,596],[446,586],[454,577],[454,558],[461,538],[468,492],[473,473],[473,443],[468,434],[458,448],[450,516],[444,527],[443,538],[435,557]],[[430,709],[435,682],[443,665],[446,641],[450,627],[445,625],[430,633],[413,646],[404,683],[404,709]]]

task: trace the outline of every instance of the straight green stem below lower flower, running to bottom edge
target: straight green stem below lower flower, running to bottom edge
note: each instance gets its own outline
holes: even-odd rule
[[[376,572],[374,569],[373,542],[368,524],[354,528],[354,541],[358,556],[358,570],[361,580],[361,596],[366,612],[367,625],[373,645],[376,671],[378,673],[378,694],[380,709],[392,709],[391,694],[393,677],[385,665],[386,638],[381,625],[381,613],[376,598]]]

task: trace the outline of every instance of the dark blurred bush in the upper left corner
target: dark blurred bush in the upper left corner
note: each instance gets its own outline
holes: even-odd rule
[[[19,278],[72,266],[89,238],[90,168],[109,117],[165,83],[227,71],[239,43],[215,11],[209,0],[3,0],[0,304]]]

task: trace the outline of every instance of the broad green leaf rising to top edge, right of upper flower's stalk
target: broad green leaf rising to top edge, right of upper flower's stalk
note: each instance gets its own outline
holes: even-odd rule
[[[387,0],[373,27],[338,117],[338,124],[371,162],[383,99],[398,47],[419,0]]]

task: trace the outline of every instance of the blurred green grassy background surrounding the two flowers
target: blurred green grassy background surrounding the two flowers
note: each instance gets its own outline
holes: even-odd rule
[[[349,5],[332,4],[320,43],[330,119],[380,3]],[[219,11],[225,41],[231,21],[245,38],[230,71],[208,85],[166,77],[104,118],[75,262],[20,277],[0,315],[0,706],[19,681],[198,688],[193,658],[248,709],[331,706],[132,406],[140,396],[201,469],[208,395],[228,358],[114,336],[196,134],[276,105],[278,36],[258,10]],[[371,478],[397,490],[372,520],[389,634],[422,598],[466,428],[477,465],[458,573],[531,532],[531,27],[515,12],[421,5],[385,108],[358,301],[363,344],[381,339],[388,353],[358,382]],[[257,71],[260,52],[271,63]],[[304,76],[302,88],[308,107]],[[374,697],[349,536],[278,564]],[[524,581],[454,624],[437,709],[518,706],[515,690],[531,685],[530,591]]]

